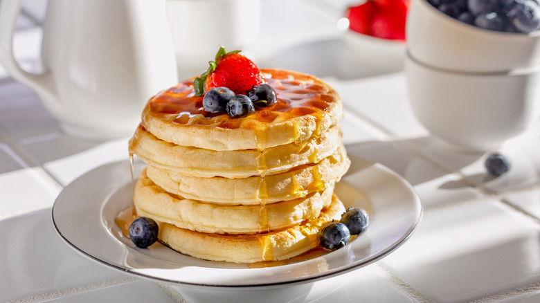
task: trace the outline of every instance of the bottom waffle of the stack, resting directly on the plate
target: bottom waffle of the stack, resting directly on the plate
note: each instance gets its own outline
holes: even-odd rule
[[[213,261],[253,263],[289,259],[318,246],[319,231],[345,212],[334,195],[332,204],[316,219],[300,225],[255,235],[218,235],[195,232],[158,222],[159,239],[170,248],[192,257]]]

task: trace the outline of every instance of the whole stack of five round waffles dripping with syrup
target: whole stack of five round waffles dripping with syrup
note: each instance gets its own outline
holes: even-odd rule
[[[345,212],[334,185],[350,161],[339,95],[312,75],[263,69],[278,101],[250,116],[208,113],[186,80],[151,98],[129,152],[147,163],[136,214],[159,241],[201,259],[288,259]]]

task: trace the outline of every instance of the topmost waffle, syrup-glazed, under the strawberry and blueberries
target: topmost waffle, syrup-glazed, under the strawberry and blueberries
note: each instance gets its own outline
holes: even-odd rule
[[[263,150],[321,136],[343,116],[339,95],[312,75],[261,70],[276,90],[278,102],[244,118],[208,113],[196,97],[192,80],[151,98],[142,125],[157,138],[175,145],[215,151]]]

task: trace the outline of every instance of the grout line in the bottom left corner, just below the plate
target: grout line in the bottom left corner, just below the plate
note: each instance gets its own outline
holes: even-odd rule
[[[92,284],[85,284],[81,286],[75,286],[72,288],[66,288],[62,289],[60,291],[53,291],[51,293],[42,293],[40,295],[33,295],[31,297],[24,297],[21,299],[11,300],[6,303],[37,303],[37,302],[44,302],[54,299],[59,299],[61,297],[67,297],[70,295],[78,295],[80,293],[87,293],[89,291],[97,291],[101,288],[107,288],[110,286],[117,286],[120,284],[126,284],[131,282],[139,281],[139,279],[136,279],[134,277],[120,277],[115,279],[107,279],[100,282],[92,283]]]

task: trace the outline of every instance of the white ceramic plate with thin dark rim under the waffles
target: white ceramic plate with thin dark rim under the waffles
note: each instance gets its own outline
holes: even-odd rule
[[[420,200],[403,178],[366,160],[354,159],[352,164],[336,193],[346,207],[366,208],[370,227],[344,248],[292,264],[249,268],[196,259],[159,243],[136,248],[114,222],[132,203],[127,161],[93,169],[68,185],[53,206],[53,223],[60,237],[82,255],[154,281],[220,288],[313,282],[385,257],[411,236],[422,217]]]

